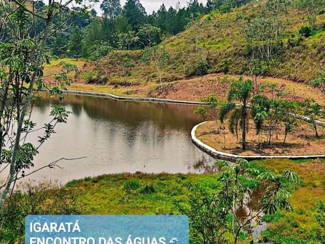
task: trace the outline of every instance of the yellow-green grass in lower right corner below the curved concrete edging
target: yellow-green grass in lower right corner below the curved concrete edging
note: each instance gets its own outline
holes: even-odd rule
[[[319,243],[310,240],[320,226],[315,220],[318,201],[325,201],[325,162],[315,160],[264,160],[253,162],[255,166],[280,172],[286,169],[299,174],[301,185],[293,189],[290,202],[292,212],[280,211],[275,216],[265,217],[272,223],[263,237],[274,243],[297,244]],[[320,243],[319,243],[320,244]]]

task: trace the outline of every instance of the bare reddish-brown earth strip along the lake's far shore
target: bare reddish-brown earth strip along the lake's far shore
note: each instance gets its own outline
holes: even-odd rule
[[[200,101],[211,93],[216,93],[220,99],[226,99],[228,95],[229,85],[232,80],[238,79],[239,76],[209,74],[202,77],[178,80],[165,83],[163,89],[159,84],[153,82],[145,82],[137,85],[98,85],[85,84],[80,80],[68,87],[70,90],[81,90],[84,92],[110,93],[116,96],[126,97],[155,97],[173,100]],[[244,77],[249,78],[249,77]],[[325,97],[317,88],[313,88],[306,83],[298,83],[290,80],[264,77],[259,83],[276,83],[283,93],[283,99],[293,101],[303,101],[305,99],[313,99],[321,105],[325,105]],[[271,96],[270,92],[264,93]]]

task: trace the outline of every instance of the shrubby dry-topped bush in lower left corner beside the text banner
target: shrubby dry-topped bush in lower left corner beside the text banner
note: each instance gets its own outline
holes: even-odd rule
[[[21,242],[27,215],[79,215],[80,193],[48,182],[24,185],[7,200],[0,212],[0,242]]]

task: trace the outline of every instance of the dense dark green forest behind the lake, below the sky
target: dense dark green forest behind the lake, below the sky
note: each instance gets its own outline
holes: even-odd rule
[[[120,0],[104,0],[101,3],[103,16],[98,16],[94,9],[67,8],[67,14],[74,13],[72,21],[63,27],[64,32],[49,40],[48,45],[59,57],[97,60],[114,49],[143,49],[158,44],[184,31],[212,10],[226,13],[247,2],[249,0],[209,0],[204,6],[198,0],[190,0],[185,7],[177,3],[167,9],[163,4],[157,12],[147,14],[139,0],[128,0],[124,6]],[[42,12],[44,3],[36,2],[32,8]]]

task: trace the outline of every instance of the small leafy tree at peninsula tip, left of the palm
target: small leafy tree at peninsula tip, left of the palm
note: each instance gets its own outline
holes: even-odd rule
[[[215,120],[217,124],[217,130],[219,131],[218,116],[222,102],[219,101],[217,95],[214,93],[201,99],[201,102],[205,104],[194,110],[194,113],[199,114],[203,119],[210,117]]]

